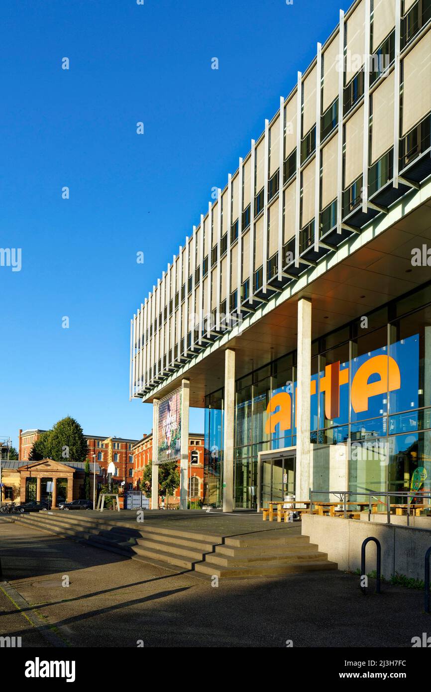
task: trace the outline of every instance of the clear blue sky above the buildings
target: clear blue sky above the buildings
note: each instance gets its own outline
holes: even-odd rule
[[[129,320],[349,4],[1,1],[0,435],[151,430]]]

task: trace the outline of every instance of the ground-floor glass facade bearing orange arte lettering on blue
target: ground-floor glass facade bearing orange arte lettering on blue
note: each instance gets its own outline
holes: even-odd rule
[[[311,355],[311,442],[349,446],[349,489],[420,479],[430,491],[431,284],[315,340]],[[291,352],[236,382],[237,508],[257,506],[257,454],[296,444],[295,373]],[[223,390],[205,399],[205,448],[205,500],[219,507]]]

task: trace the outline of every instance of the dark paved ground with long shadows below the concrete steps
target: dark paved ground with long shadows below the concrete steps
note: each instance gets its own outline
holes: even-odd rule
[[[421,592],[383,585],[380,597],[363,597],[358,577],[342,572],[214,588],[19,522],[0,519],[0,536],[3,579],[25,599],[14,611],[0,591],[0,635],[21,636],[22,646],[41,645],[44,628],[51,640],[42,646],[57,637],[80,647],[285,647],[289,639],[293,646],[410,647],[412,637],[431,631]]]

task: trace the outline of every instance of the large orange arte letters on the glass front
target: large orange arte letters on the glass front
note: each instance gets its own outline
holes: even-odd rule
[[[340,388],[349,384],[349,368],[340,369],[340,361],[327,365],[320,377],[320,392],[324,393],[324,415],[328,420],[340,416]],[[351,383],[351,408],[361,413],[368,410],[369,399],[401,388],[401,372],[391,356],[372,356],[358,367]],[[295,389],[295,400],[296,400]],[[310,396],[317,393],[317,380],[310,383]],[[296,411],[296,406],[295,406]],[[289,392],[277,392],[270,398],[266,408],[266,435],[292,428],[292,396]],[[296,422],[296,421],[295,421]]]

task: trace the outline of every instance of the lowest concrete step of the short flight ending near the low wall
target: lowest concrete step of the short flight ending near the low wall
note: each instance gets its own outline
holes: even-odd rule
[[[222,567],[221,565],[212,565],[206,562],[197,563],[194,565],[194,570],[201,574],[217,576],[219,579],[228,579],[229,577],[241,578],[247,576],[281,576],[283,574],[302,574],[302,572],[318,572],[320,570],[336,570],[337,563],[331,563],[327,560],[322,561],[306,561],[291,563],[266,562],[261,565],[246,565],[238,567]]]

